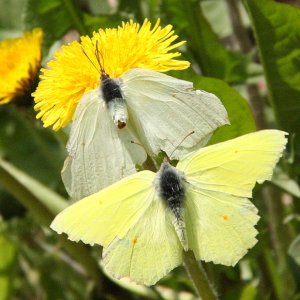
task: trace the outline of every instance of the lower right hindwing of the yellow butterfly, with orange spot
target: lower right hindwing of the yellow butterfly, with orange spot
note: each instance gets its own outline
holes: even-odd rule
[[[257,240],[257,209],[247,199],[189,188],[185,223],[197,260],[235,265]]]

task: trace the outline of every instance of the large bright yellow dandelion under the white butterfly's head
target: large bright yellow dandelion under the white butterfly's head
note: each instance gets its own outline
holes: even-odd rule
[[[142,26],[132,20],[122,23],[118,28],[100,29],[93,37],[81,37],[81,43],[74,41],[63,46],[62,51],[54,54],[47,69],[42,69],[42,79],[33,96],[35,109],[40,111],[44,126],[53,125],[54,130],[66,126],[72,119],[76,106],[83,94],[100,86],[99,72],[85,57],[82,47],[93,61],[95,44],[98,42],[105,72],[112,78],[118,78],[132,68],[145,68],[165,72],[182,70],[189,67],[187,61],[176,58],[179,52],[170,52],[184,43],[173,43],[171,25],[162,28],[157,20],[151,29],[146,19]]]

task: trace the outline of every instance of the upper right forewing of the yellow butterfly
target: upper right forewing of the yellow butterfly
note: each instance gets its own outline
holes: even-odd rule
[[[270,180],[287,142],[286,133],[262,130],[202,148],[177,168],[199,189],[251,197],[256,182]]]

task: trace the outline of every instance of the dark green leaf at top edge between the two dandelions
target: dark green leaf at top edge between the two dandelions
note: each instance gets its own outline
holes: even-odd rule
[[[43,29],[47,48],[70,29],[77,29],[81,35],[87,33],[81,12],[72,0],[28,0],[24,21],[28,30],[33,27]]]

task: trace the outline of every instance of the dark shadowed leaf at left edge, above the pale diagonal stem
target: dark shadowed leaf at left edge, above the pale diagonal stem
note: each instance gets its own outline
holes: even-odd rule
[[[35,120],[31,109],[0,107],[0,156],[39,181],[64,192],[60,170],[65,147],[55,133]]]

